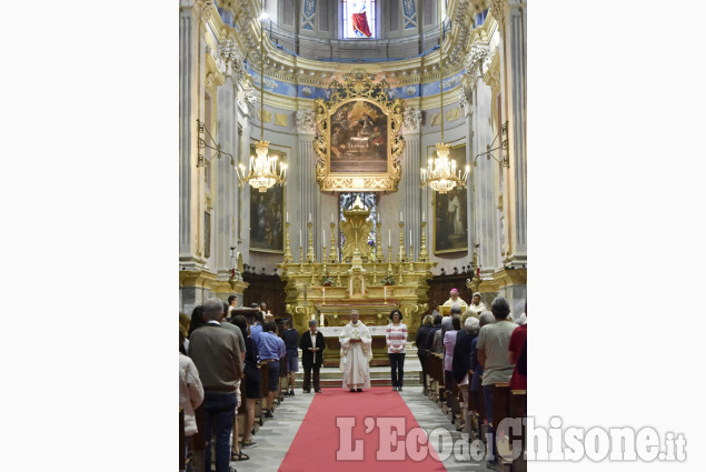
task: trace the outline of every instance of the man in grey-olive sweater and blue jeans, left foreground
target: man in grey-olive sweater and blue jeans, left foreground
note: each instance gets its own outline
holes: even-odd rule
[[[229,472],[230,433],[238,406],[237,381],[242,378],[242,358],[236,334],[222,328],[223,303],[206,301],[206,325],[191,333],[189,356],[203,384],[206,416],[206,471],[211,470],[211,438],[216,436],[216,472]]]

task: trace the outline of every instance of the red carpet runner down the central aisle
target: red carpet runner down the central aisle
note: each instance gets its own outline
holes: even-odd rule
[[[437,458],[390,386],[362,393],[325,389],[311,402],[279,471],[446,471]]]

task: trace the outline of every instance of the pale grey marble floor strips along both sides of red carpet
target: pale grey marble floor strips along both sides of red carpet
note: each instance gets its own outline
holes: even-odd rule
[[[324,394],[326,394],[326,390],[324,390]],[[453,450],[453,444],[458,448],[465,441],[458,441],[461,439],[461,433],[456,431],[439,406],[424,395],[421,390],[421,385],[406,385],[400,395],[427,434],[436,430],[440,438],[440,445],[435,444],[435,449],[440,452],[441,456],[448,455],[443,461],[446,470],[488,470],[485,462],[470,460],[468,449],[465,450],[464,455],[460,455],[460,460],[457,460],[454,453],[444,454],[444,451],[450,452]],[[275,418],[267,420],[258,433],[252,436],[257,445],[242,450],[250,456],[250,460],[231,462],[231,470],[236,469],[238,472],[276,472],[279,470],[315,396],[314,393],[300,392],[301,390],[298,389],[294,398],[285,398],[280,406],[276,409]],[[465,443],[467,444],[467,442]]]

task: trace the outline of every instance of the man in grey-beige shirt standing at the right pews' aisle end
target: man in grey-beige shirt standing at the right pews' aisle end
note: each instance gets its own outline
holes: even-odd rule
[[[484,368],[483,393],[486,406],[488,429],[493,429],[493,384],[496,382],[509,382],[513,376],[514,365],[509,361],[508,347],[510,335],[517,324],[507,319],[510,305],[503,297],[493,300],[490,304],[495,323],[486,324],[478,333],[478,362]],[[493,430],[495,431],[495,430]],[[493,460],[497,456],[496,444],[493,441]]]

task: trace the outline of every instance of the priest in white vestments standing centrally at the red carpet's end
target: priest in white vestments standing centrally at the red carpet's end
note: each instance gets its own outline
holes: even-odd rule
[[[351,392],[362,392],[362,389],[370,388],[372,338],[368,328],[358,320],[359,317],[358,310],[351,310],[350,322],[338,337],[344,389],[350,389]]]

